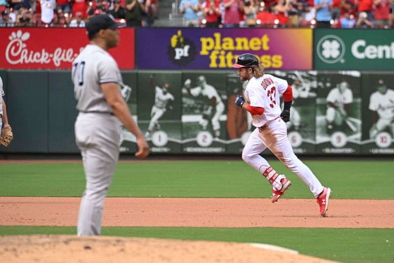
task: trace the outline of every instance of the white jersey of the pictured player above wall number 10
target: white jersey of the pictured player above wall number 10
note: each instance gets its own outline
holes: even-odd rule
[[[385,94],[375,91],[369,98],[369,110],[375,111],[383,119],[394,119],[394,91],[388,89]]]

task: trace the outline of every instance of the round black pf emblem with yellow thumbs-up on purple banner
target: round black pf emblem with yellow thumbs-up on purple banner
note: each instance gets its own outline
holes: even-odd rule
[[[168,46],[168,58],[178,66],[190,64],[196,57],[197,48],[189,38],[182,36],[182,31],[178,30],[177,35],[171,37],[171,44]]]

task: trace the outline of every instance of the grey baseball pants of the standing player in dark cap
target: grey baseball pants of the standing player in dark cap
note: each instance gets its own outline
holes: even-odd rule
[[[79,113],[75,140],[86,176],[78,215],[78,236],[99,235],[104,198],[119,159],[120,125],[108,113]]]

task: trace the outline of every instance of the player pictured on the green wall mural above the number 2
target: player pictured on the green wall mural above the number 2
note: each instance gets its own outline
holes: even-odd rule
[[[190,83],[190,81],[188,82]],[[195,88],[187,88],[187,91],[189,94],[191,94],[194,97],[198,97],[202,95],[203,97],[207,98],[210,101],[210,105],[205,115],[212,116],[210,120],[212,123],[213,131],[215,132],[215,138],[219,138],[220,137],[219,119],[225,110],[225,105],[222,101],[222,98],[219,96],[218,92],[216,91],[216,89],[212,85],[206,83],[205,76],[200,75],[197,77],[197,85],[198,86]],[[215,110],[215,113],[213,113],[213,110]],[[203,127],[203,129],[206,129],[206,126],[208,125],[208,120],[206,118],[203,118],[202,121],[200,122],[200,125]]]

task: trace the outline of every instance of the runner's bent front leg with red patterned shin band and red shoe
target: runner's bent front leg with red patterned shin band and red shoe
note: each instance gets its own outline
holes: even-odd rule
[[[248,141],[242,151],[242,159],[261,173],[273,187],[272,202],[277,201],[284,191],[291,185],[284,175],[279,175],[268,162],[260,156],[260,153],[267,147],[259,138],[259,129],[256,128],[249,136]]]

